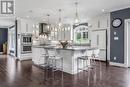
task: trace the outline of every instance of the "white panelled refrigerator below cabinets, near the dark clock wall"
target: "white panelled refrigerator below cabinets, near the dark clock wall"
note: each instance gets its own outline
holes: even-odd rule
[[[91,46],[100,49],[100,59],[106,61],[106,30],[96,30],[91,33]]]

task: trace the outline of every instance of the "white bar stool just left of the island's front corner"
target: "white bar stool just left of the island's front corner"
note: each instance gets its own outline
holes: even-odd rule
[[[63,57],[58,55],[55,49],[47,49],[47,52],[48,52],[48,65],[53,69],[53,71],[57,70],[63,71]],[[57,64],[60,66],[57,67]]]

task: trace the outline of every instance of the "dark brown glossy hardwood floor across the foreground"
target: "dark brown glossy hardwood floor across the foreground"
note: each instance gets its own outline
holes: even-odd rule
[[[63,75],[63,77],[62,77]],[[96,62],[94,69],[77,75],[45,71],[31,61],[0,56],[0,87],[130,87],[130,69]]]

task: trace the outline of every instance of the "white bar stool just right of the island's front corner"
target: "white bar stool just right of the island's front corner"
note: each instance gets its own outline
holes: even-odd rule
[[[90,60],[90,58],[92,58],[92,54],[93,51],[91,49],[86,50],[82,56],[77,58],[77,70],[86,70],[86,68],[88,68],[88,63],[87,61]],[[79,63],[80,61],[83,61],[83,68],[79,68]],[[84,64],[86,63],[86,64]]]

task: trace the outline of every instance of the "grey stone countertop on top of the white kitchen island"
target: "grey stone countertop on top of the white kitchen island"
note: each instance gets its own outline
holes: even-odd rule
[[[34,48],[44,48],[44,49],[56,49],[56,50],[71,50],[71,51],[85,51],[86,49],[93,49],[90,46],[72,46],[67,48],[61,48],[58,46],[48,46],[48,45],[33,45]]]

